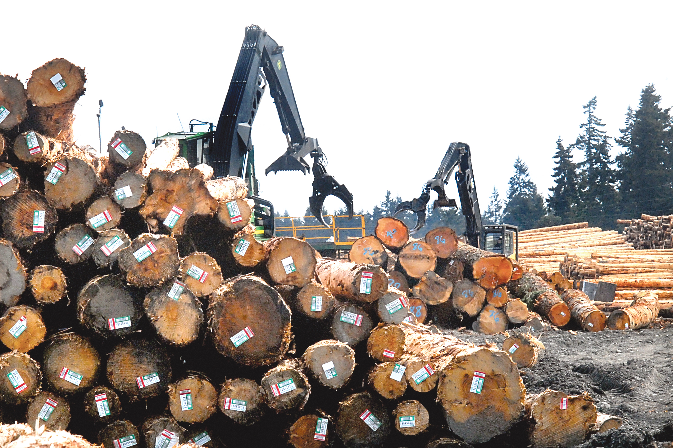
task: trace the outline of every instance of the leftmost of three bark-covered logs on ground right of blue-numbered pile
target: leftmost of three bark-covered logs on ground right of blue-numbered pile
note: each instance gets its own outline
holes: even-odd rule
[[[532,301],[534,309],[546,316],[556,326],[570,322],[570,309],[544,280],[534,273],[525,272],[518,280],[507,283],[507,289],[524,302]]]

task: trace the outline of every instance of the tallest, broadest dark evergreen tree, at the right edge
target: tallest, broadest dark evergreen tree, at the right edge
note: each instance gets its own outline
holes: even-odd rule
[[[627,109],[618,144],[626,150],[617,156],[619,193],[625,218],[641,213],[673,213],[673,144],[670,108],[662,109],[653,85],[641,91],[639,109]]]

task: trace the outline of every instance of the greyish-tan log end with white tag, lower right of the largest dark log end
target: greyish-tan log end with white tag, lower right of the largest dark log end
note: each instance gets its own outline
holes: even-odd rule
[[[353,375],[355,351],[345,343],[326,339],[308,347],[302,362],[322,386],[339,389]]]

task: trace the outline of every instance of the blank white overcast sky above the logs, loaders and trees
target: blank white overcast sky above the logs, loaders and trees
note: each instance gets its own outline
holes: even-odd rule
[[[176,114],[185,128],[217,123],[245,27],[266,29],[285,47],[306,134],[356,210],[386,189],[419,195],[453,141],[472,148],[483,209],[517,156],[545,194],[555,140],[575,141],[591,97],[611,136],[647,83],[673,104],[670,1],[5,3],[0,72],[26,81],[57,57],[85,67],[75,136],[95,147],[98,99],[104,145],[121,126],[150,144],[180,130]],[[287,146],[268,92],[252,132],[263,175]],[[270,174],[260,195],[304,214],[311,182]]]

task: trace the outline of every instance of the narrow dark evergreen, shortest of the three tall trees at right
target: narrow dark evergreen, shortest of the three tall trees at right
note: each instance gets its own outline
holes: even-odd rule
[[[564,148],[561,136],[556,140],[556,167],[554,181],[550,188],[550,197],[546,200],[548,209],[561,219],[563,223],[577,220],[577,164],[573,163],[572,148]]]

